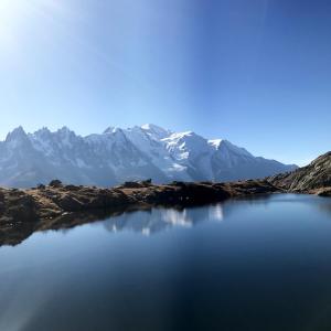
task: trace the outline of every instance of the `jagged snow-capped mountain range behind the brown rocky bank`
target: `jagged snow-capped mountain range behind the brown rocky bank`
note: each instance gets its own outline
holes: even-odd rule
[[[77,136],[64,127],[26,134],[22,127],[0,142],[0,185],[33,186],[60,179],[74,184],[114,185],[151,178],[154,182],[232,181],[290,171],[256,158],[227,140],[154,125]]]

